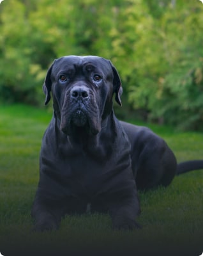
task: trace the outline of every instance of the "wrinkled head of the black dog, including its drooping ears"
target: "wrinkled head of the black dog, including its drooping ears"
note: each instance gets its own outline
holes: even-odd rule
[[[96,135],[112,111],[112,97],[121,105],[121,80],[109,60],[97,56],[65,56],[47,72],[43,91],[47,104],[52,92],[60,129],[71,136],[77,128]]]

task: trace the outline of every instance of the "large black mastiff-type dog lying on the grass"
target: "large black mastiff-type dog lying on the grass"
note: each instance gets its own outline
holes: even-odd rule
[[[174,175],[203,168],[176,164],[162,138],[146,127],[119,122],[121,80],[109,60],[66,56],[54,61],[43,91],[54,115],[43,136],[40,182],[32,215],[36,230],[57,228],[64,214],[110,212],[114,228],[139,227],[137,189],[167,186]]]

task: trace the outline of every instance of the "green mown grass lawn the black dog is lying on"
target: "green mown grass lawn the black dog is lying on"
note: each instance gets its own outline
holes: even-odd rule
[[[85,250],[123,255],[200,255],[203,251],[203,171],[176,177],[168,188],[140,193],[141,230],[114,231],[109,215],[66,216],[59,230],[31,232],[41,138],[52,116],[29,106],[0,106],[0,252],[71,255]],[[135,121],[134,121],[135,122]],[[136,122],[135,122],[136,123]],[[143,124],[142,124],[143,125]],[[178,161],[202,159],[203,134],[149,125]],[[31,252],[28,253],[28,250]],[[45,250],[44,253],[42,250]],[[97,250],[97,251],[96,251]],[[84,253],[85,254],[85,253]]]

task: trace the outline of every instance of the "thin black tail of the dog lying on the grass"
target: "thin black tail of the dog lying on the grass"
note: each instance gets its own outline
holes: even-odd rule
[[[203,170],[203,160],[186,161],[177,164],[176,175],[200,169]]]

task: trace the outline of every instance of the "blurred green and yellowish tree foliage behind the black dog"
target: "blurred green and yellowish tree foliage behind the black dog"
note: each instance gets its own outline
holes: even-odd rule
[[[202,130],[202,12],[184,0],[3,1],[0,99],[40,104],[54,58],[98,55],[119,70],[135,113]]]

